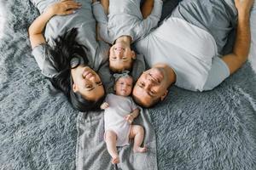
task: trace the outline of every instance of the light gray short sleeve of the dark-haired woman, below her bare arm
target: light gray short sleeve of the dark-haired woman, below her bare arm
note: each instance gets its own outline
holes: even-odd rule
[[[45,77],[54,77],[57,74],[54,66],[49,62],[49,54],[46,52],[47,44],[40,44],[32,49],[32,55],[35,57],[38,66]]]

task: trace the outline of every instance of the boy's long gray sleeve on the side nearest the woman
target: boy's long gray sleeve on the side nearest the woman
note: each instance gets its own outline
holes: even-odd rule
[[[112,40],[108,35],[108,17],[104,13],[102,4],[100,2],[93,3],[92,11],[99,27],[98,31],[100,31],[100,36],[105,42],[112,43]]]

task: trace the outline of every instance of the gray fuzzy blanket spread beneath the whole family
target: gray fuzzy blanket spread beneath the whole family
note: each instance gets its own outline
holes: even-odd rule
[[[28,0],[0,5],[6,19],[0,37],[0,169],[75,169],[79,112],[32,57],[27,28],[38,11]],[[158,169],[255,170],[255,87],[247,63],[210,92],[171,88],[149,110]]]

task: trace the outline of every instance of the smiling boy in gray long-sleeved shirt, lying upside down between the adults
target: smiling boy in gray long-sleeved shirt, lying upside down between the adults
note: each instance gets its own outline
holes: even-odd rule
[[[93,13],[100,37],[113,44],[109,49],[109,68],[113,72],[131,71],[136,59],[131,43],[145,37],[157,26],[162,0],[146,0],[146,4],[154,5],[152,11],[145,10],[145,13],[150,12],[146,19],[140,10],[140,0],[101,0],[101,3],[93,3]]]

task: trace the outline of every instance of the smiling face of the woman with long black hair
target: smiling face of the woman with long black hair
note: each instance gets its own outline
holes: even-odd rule
[[[105,94],[101,78],[89,66],[79,65],[71,70],[73,92],[79,92],[84,99],[97,101]]]

